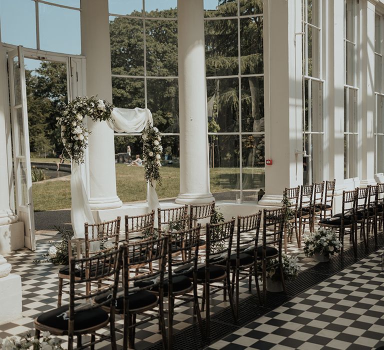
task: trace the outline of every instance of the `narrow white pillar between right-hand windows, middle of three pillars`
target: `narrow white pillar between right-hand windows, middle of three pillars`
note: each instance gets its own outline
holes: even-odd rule
[[[335,205],[341,208],[344,187],[344,3],[330,1],[328,8],[328,79],[325,100],[328,101],[328,179],[336,179]],[[327,131],[327,132],[326,132]],[[326,148],[325,148],[326,149]]]

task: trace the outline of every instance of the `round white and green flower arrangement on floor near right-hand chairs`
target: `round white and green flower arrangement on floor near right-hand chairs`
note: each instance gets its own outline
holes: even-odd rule
[[[318,262],[325,262],[329,257],[338,253],[341,249],[341,242],[337,239],[336,233],[325,227],[315,229],[304,236],[304,253],[306,256],[314,256]]]

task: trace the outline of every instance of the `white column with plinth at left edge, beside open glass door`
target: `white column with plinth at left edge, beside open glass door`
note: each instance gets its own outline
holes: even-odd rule
[[[8,171],[12,162],[9,159],[8,163],[11,142],[7,79],[5,49],[0,46],[0,253],[24,246],[24,225],[17,222],[17,215],[9,205],[13,177]]]

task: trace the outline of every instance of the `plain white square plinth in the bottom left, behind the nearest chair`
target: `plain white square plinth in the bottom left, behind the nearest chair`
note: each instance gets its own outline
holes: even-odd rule
[[[8,274],[0,278],[0,324],[21,318],[21,277]]]

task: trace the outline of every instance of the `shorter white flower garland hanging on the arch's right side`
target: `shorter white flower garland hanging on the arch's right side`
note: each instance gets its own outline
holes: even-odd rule
[[[161,134],[157,127],[147,124],[141,138],[143,141],[142,153],[144,158],[145,179],[149,181],[150,185],[152,185],[152,180],[161,185]]]

